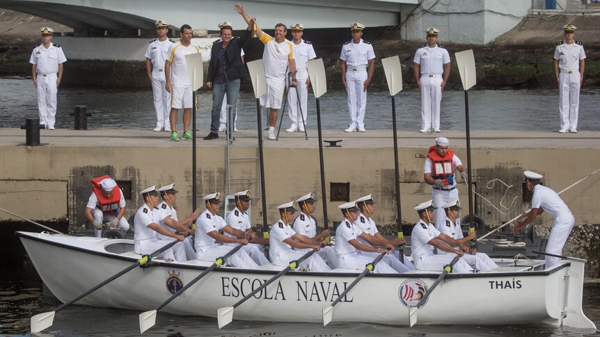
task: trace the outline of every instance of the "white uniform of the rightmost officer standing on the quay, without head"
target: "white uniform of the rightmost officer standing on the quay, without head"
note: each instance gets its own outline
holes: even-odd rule
[[[560,129],[576,130],[579,116],[579,89],[581,88],[581,74],[579,73],[579,61],[585,59],[583,44],[575,41],[567,44],[565,41],[558,42],[554,49],[554,59],[559,60],[560,85],[559,104]]]

